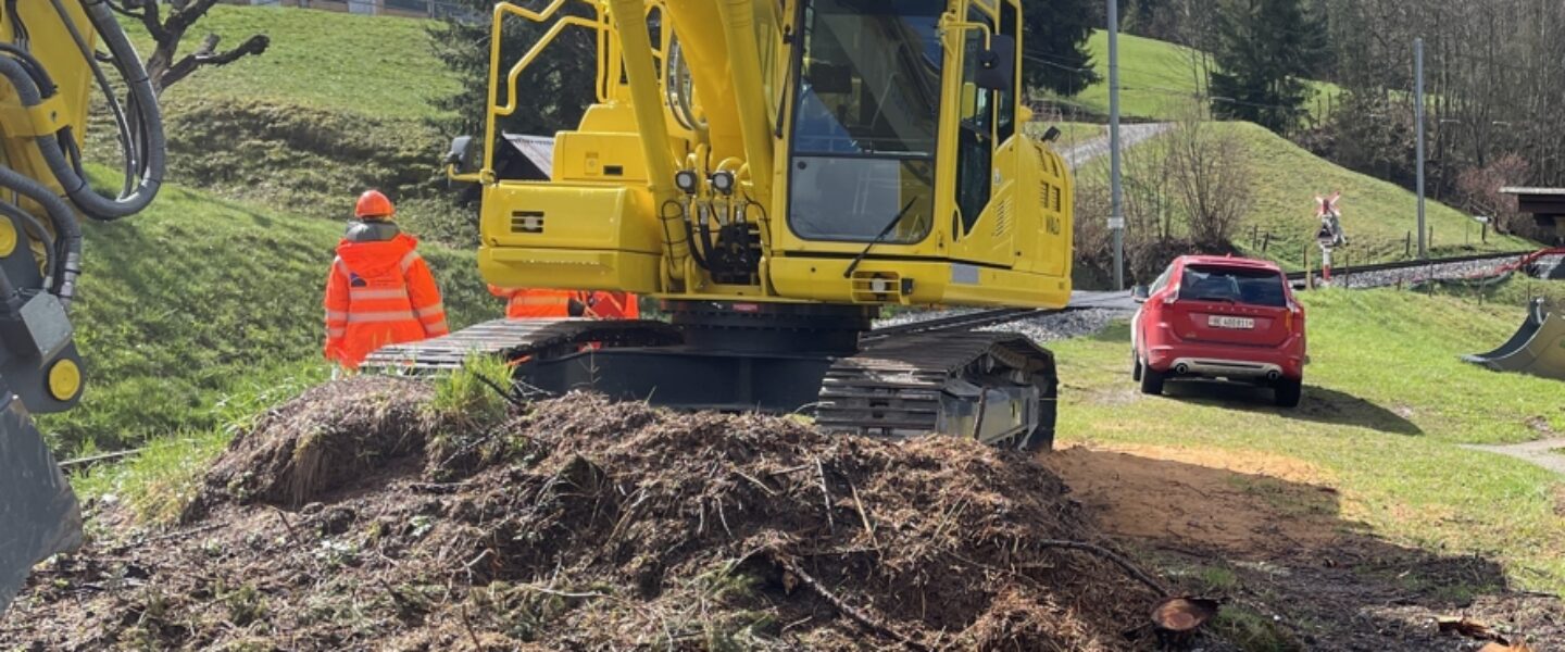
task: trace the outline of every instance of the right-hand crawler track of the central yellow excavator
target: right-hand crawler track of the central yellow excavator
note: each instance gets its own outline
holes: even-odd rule
[[[942,433],[1024,450],[1053,444],[1053,353],[1017,333],[920,333],[836,361],[815,424],[880,436]]]

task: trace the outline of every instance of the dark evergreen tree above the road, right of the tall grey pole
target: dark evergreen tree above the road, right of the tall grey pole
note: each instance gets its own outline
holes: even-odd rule
[[[1326,52],[1324,23],[1301,0],[1229,0],[1218,13],[1211,113],[1285,133],[1304,117]]]

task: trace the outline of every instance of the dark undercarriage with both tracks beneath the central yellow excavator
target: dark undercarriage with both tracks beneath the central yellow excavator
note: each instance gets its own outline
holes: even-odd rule
[[[451,371],[471,355],[515,364],[535,396],[576,389],[678,410],[814,413],[829,432],[930,433],[995,446],[1053,441],[1053,356],[1014,333],[875,338],[861,306],[668,302],[654,321],[493,321],[380,349],[382,372]]]

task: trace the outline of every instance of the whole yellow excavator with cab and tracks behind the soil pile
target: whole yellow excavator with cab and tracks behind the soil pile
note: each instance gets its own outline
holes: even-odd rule
[[[507,61],[515,22],[543,36]],[[646,294],[670,319],[498,321],[368,364],[502,355],[546,394],[1050,446],[1055,364],[1030,339],[870,333],[883,306],[1069,302],[1072,181],[1058,131],[1024,131],[1020,25],[1017,0],[496,5],[487,133],[446,161],[482,191],[484,277]],[[509,178],[518,80],[573,30],[596,102],[548,180]]]

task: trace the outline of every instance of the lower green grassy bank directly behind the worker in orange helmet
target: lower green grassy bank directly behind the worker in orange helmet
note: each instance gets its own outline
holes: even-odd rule
[[[59,449],[208,428],[228,394],[324,375],[321,297],[341,224],[164,186],[146,214],[85,230],[74,319],[91,380],[78,410],[44,421]],[[473,253],[423,253],[452,327],[499,314]]]

